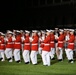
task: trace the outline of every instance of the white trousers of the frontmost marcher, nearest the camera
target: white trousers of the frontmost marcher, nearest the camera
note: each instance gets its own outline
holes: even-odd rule
[[[50,66],[50,52],[42,51],[42,61],[43,65]]]

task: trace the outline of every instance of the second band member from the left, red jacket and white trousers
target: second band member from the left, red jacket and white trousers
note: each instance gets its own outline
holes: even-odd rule
[[[12,40],[12,31],[8,30],[6,34],[6,49],[5,49],[5,55],[9,62],[12,62],[12,49],[13,49],[13,40]]]

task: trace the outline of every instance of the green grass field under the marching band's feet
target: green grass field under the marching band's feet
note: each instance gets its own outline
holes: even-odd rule
[[[24,64],[16,62],[0,62],[0,75],[76,75],[76,62],[68,63],[67,59],[63,62],[51,61],[51,66],[43,66],[42,60],[38,58],[38,65]]]

